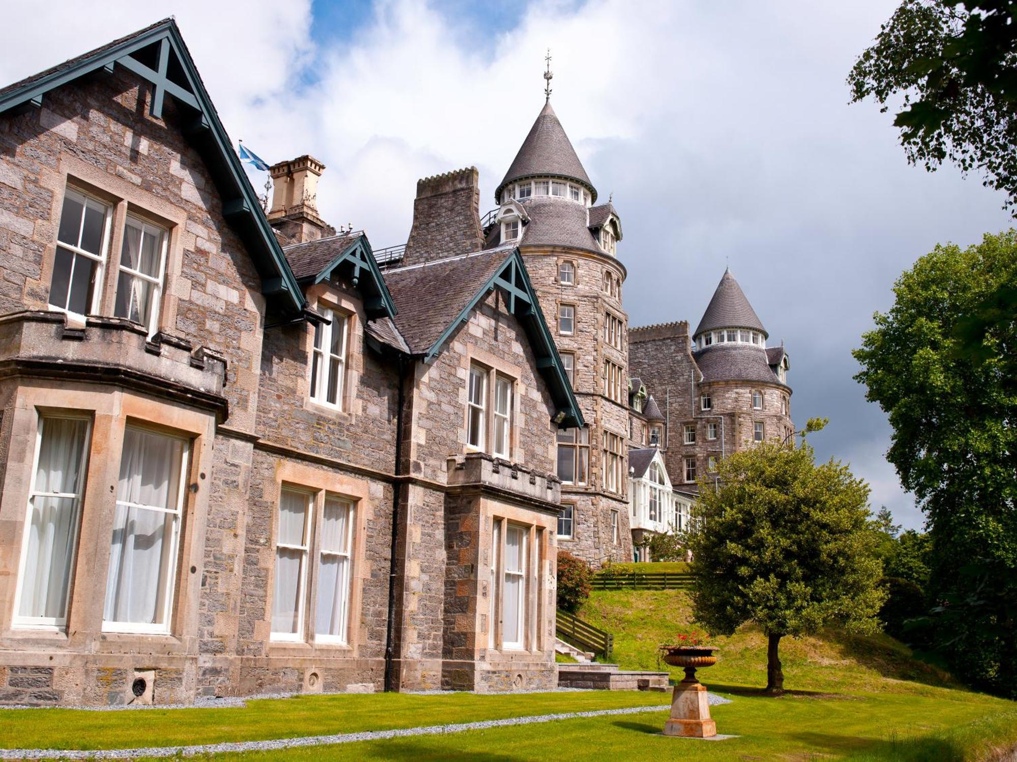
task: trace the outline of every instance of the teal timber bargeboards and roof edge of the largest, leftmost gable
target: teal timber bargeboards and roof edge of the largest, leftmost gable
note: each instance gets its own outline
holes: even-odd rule
[[[223,214],[240,235],[261,275],[262,293],[286,311],[301,310],[303,294],[172,18],[0,89],[0,113],[18,107],[39,108],[48,91],[92,72],[112,72],[118,66],[154,85],[153,117],[162,118],[167,97],[177,103],[184,117],[182,132],[207,166],[223,199]]]

